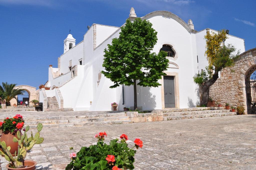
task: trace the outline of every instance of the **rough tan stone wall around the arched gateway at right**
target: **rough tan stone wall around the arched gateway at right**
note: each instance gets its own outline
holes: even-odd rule
[[[210,97],[215,103],[243,106],[247,114],[245,78],[255,65],[256,48],[243,52],[234,66],[220,71],[220,78],[210,87]]]

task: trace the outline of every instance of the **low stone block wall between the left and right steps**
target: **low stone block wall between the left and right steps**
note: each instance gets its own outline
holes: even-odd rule
[[[127,116],[132,121],[136,122],[157,122],[163,121],[163,111],[152,111],[151,113],[138,113],[138,112],[127,112]]]

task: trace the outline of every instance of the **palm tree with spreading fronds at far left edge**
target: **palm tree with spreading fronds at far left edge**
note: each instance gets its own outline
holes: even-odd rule
[[[8,84],[7,82],[2,82],[2,86],[0,85],[0,91],[2,91],[5,96],[6,106],[10,105],[10,100],[12,100],[12,98],[17,100],[16,96],[23,94],[24,89],[14,89],[16,85],[17,84]]]

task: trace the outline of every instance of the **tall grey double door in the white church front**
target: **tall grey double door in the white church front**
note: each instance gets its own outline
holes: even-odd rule
[[[164,107],[175,108],[174,76],[164,76]]]

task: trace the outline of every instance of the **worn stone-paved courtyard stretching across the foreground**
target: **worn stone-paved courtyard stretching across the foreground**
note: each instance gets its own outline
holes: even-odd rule
[[[44,128],[44,142],[28,158],[37,169],[65,169],[69,147],[79,151],[106,131],[106,143],[120,134],[143,140],[135,155],[135,169],[256,169],[256,115],[222,116],[163,122],[145,122],[84,127]],[[3,162],[1,159],[2,165]],[[3,168],[4,169],[4,168]]]

